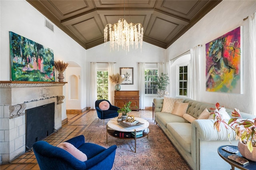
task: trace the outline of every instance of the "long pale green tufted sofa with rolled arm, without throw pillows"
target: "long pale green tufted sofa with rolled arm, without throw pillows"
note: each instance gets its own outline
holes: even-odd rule
[[[178,152],[188,162],[193,170],[227,170],[230,165],[225,162],[217,152],[217,148],[222,145],[230,144],[228,133],[221,126],[221,131],[214,129],[213,119],[200,119],[189,123],[183,117],[164,113],[162,111],[164,98],[155,98],[155,121],[162,128],[166,136],[176,147]],[[215,105],[184,99],[183,103],[188,103],[187,114],[198,118],[205,108],[215,108]],[[239,109],[239,108],[238,108]],[[233,109],[226,109],[231,116]],[[253,119],[254,115],[240,112],[243,119]],[[232,145],[237,145],[235,133],[230,134]]]

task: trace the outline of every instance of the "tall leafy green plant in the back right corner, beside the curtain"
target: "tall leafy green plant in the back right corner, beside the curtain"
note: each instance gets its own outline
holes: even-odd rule
[[[169,77],[164,73],[161,73],[161,75],[157,78],[154,88],[157,89],[158,97],[164,97],[164,95],[169,94],[167,91],[165,91],[167,85],[169,84],[168,81]]]

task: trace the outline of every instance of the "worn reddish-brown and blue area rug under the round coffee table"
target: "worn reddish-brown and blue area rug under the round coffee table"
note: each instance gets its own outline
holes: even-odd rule
[[[136,140],[136,153],[133,147],[134,140],[118,139],[108,134],[106,144],[106,121],[105,125],[102,121],[98,122],[98,119],[92,121],[84,136],[86,142],[99,144],[105,148],[117,145],[113,170],[191,170],[160,127],[152,120],[148,122],[148,138]]]

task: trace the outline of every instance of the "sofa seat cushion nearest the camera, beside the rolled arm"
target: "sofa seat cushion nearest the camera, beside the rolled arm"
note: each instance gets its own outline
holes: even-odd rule
[[[167,123],[166,127],[182,148],[191,153],[191,123]]]

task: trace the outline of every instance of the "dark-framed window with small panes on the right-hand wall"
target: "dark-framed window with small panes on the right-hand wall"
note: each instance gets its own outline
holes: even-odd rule
[[[179,66],[179,96],[188,97],[188,65]]]

